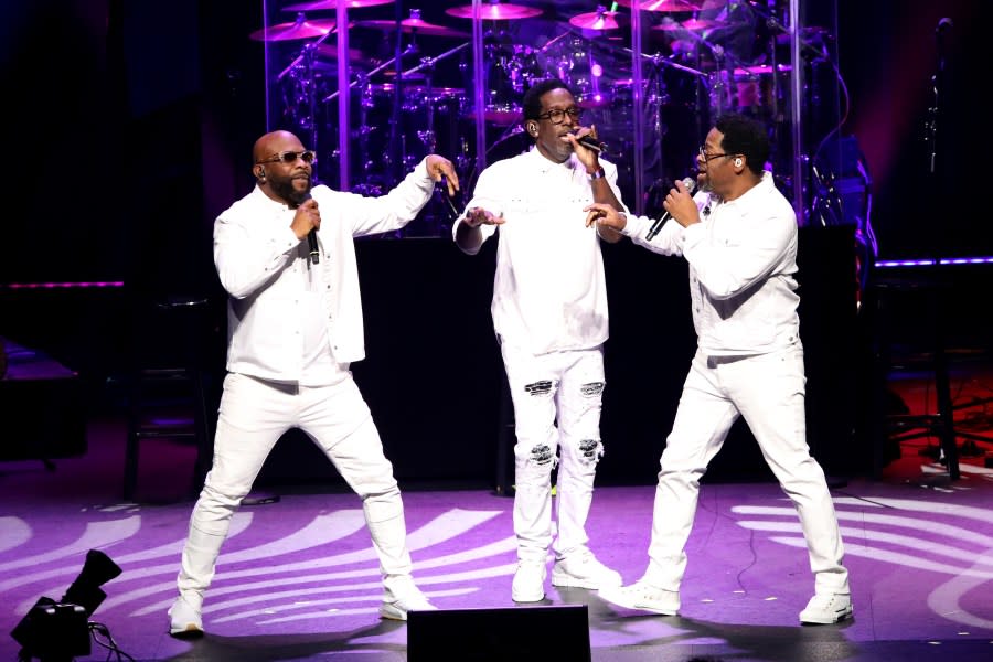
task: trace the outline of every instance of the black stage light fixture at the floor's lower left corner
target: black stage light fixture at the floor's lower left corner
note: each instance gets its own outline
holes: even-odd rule
[[[99,587],[120,575],[110,557],[90,549],[79,576],[60,601],[42,596],[10,636],[21,644],[18,660],[72,662],[90,653],[89,617],[107,597]]]

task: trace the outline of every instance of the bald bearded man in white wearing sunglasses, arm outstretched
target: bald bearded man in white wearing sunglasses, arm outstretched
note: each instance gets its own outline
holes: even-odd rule
[[[380,615],[434,609],[412,578],[393,466],[349,365],[365,357],[353,237],[395,231],[459,185],[451,163],[426,157],[395,189],[363,197],[311,186],[314,153],[288,131],[259,138],[255,189],[214,223],[214,264],[227,290],[227,376],[214,462],[193,508],[169,609],[170,633],[203,633],[203,594],[231,517],[279,437],[300,428],[362,499],[384,587]],[[320,234],[317,234],[320,231]]]

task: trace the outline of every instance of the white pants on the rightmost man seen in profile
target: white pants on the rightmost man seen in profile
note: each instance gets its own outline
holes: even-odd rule
[[[708,359],[697,351],[660,462],[647,581],[679,590],[700,478],[740,415],[800,516],[815,591],[848,592],[834,503],[807,446],[805,384],[799,343],[748,357]]]

